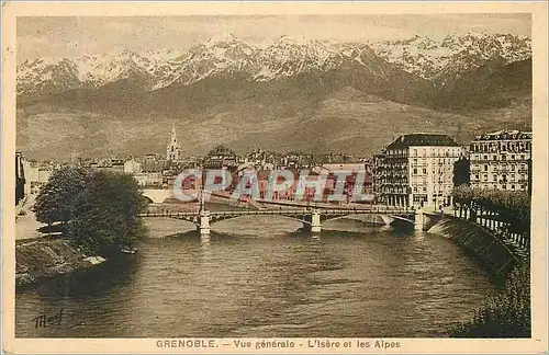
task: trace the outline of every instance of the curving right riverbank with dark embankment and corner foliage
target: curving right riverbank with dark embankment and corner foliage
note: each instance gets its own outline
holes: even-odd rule
[[[490,230],[450,217],[429,232],[451,239],[482,264],[500,286],[471,320],[452,328],[453,337],[529,337],[531,335],[529,259],[517,256]]]

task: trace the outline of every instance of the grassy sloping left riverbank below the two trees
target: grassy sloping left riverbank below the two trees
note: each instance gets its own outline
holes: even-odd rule
[[[105,261],[86,255],[63,239],[21,240],[15,244],[15,286],[89,270]]]

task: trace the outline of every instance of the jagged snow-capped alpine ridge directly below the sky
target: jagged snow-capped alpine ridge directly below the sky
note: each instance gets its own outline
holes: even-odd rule
[[[531,57],[531,41],[508,34],[426,36],[372,43],[338,43],[281,36],[255,45],[232,33],[215,34],[188,50],[127,49],[78,58],[44,57],[18,67],[18,93],[59,92],[100,88],[121,79],[138,78],[148,90],[171,84],[190,85],[208,77],[235,75],[269,81],[302,72],[326,72],[343,65],[358,65],[382,75],[386,62],[429,80],[459,76],[488,61],[504,64]],[[381,58],[381,59],[380,59]]]

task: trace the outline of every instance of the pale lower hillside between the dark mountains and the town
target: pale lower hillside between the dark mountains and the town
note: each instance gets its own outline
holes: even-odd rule
[[[205,153],[224,144],[239,152],[261,147],[280,152],[302,149],[368,156],[400,134],[422,130],[453,135],[458,123],[474,122],[467,116],[399,104],[350,87],[322,98],[285,98],[282,105],[271,102],[250,96],[237,104],[210,106],[179,117],[131,119],[59,111],[56,106],[27,106],[19,111],[18,149],[38,159],[163,153],[175,122],[188,154]]]

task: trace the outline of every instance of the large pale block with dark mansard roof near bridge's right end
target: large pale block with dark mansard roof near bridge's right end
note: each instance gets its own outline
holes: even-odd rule
[[[374,156],[378,202],[435,208],[451,204],[455,163],[461,156],[461,147],[447,135],[399,137]]]

